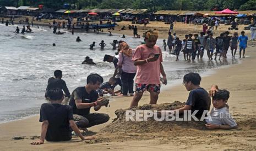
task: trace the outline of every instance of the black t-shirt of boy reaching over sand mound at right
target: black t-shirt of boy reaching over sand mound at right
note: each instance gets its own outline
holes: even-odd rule
[[[192,107],[192,113],[195,110],[198,110],[197,114],[195,114],[195,117],[199,118],[200,120],[204,110],[209,111],[211,106],[211,98],[209,97],[208,92],[205,91],[203,88],[194,89],[189,92],[186,105]]]

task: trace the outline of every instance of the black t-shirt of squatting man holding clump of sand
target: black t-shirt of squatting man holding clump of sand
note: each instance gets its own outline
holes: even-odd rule
[[[82,103],[92,103],[97,101],[97,98],[99,98],[99,94],[97,91],[92,90],[90,94],[88,94],[88,92],[85,90],[85,87],[80,86],[72,92],[72,95],[69,101],[69,106],[73,107],[73,114],[87,115],[90,113],[91,107],[78,109],[77,106],[75,105],[75,99],[81,99]]]

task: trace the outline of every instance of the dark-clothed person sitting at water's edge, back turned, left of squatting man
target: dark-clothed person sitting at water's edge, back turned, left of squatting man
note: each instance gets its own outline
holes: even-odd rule
[[[66,82],[61,79],[62,71],[57,69],[54,72],[54,75],[55,75],[55,78],[51,77],[48,79],[48,85],[47,85],[46,91],[45,91],[45,98],[48,98],[47,92],[52,88],[59,88],[65,92],[66,97],[70,97],[70,93],[67,88]]]

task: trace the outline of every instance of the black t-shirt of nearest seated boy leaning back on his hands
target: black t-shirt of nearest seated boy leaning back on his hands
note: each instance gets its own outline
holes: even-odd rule
[[[72,130],[69,127],[69,120],[73,120],[72,107],[58,103],[43,103],[39,121],[44,120],[48,120],[49,123],[46,141],[71,140]]]

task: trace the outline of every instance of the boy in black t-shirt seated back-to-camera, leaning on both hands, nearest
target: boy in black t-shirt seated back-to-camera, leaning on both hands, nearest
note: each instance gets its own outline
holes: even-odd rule
[[[32,142],[32,145],[43,144],[45,140],[53,142],[69,141],[72,138],[70,127],[81,140],[93,138],[81,135],[77,125],[74,123],[72,107],[61,104],[64,98],[61,89],[53,88],[49,90],[48,97],[51,103],[43,103],[40,109],[39,121],[42,122],[40,140]]]

